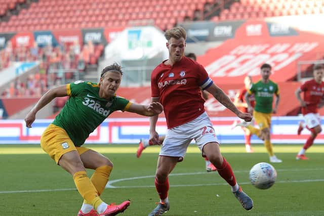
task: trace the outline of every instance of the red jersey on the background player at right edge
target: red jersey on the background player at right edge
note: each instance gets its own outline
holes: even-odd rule
[[[324,95],[324,82],[318,84],[315,79],[311,79],[302,84],[300,90],[304,92],[304,101],[307,104],[306,107],[302,107],[303,115],[317,113],[318,104]]]

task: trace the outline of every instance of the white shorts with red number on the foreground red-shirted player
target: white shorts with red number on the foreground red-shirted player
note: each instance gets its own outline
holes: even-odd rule
[[[206,112],[188,123],[168,129],[159,155],[181,157],[179,161],[182,161],[192,139],[201,152],[207,143],[218,143],[213,124]],[[203,157],[206,155],[203,154]]]

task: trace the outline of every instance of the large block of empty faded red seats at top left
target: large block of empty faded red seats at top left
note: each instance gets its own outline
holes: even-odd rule
[[[12,2],[7,0],[8,2]],[[16,0],[18,1],[18,0]],[[185,17],[203,11],[212,0],[39,0],[20,10],[19,14],[2,22],[0,32],[26,30],[55,30],[127,26],[133,21],[154,21],[160,29],[173,27]],[[169,7],[175,7],[169,10]]]

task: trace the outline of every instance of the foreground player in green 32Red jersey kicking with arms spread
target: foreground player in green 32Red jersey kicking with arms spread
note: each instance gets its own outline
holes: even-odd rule
[[[121,67],[114,63],[102,70],[99,83],[79,80],[53,88],[39,99],[25,118],[26,126],[31,127],[36,113],[54,98],[70,97],[43,133],[41,146],[73,176],[75,186],[84,198],[78,216],[115,215],[130,205],[130,201],[108,205],[101,200],[100,194],[108,182],[113,164],[100,153],[82,147],[90,133],[116,110],[144,116],[154,116],[163,111],[159,103],[145,106],[116,96],[122,75]],[[86,168],[95,170],[91,179]]]

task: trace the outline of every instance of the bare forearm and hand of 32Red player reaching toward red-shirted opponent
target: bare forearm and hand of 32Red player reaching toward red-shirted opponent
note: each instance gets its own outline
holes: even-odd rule
[[[152,102],[150,105],[141,105],[133,103],[127,111],[144,116],[154,116],[163,112],[163,106],[158,102]]]

